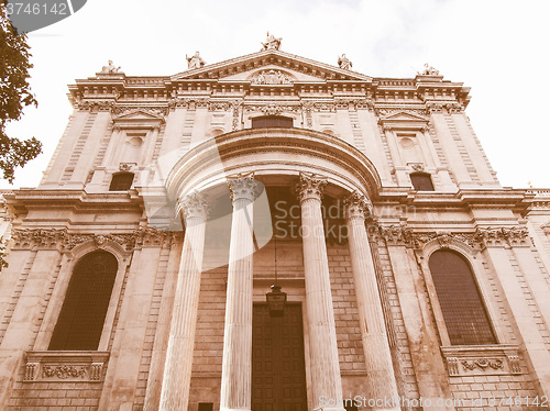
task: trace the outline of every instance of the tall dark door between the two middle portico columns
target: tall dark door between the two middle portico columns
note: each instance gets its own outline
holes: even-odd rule
[[[282,318],[254,304],[252,330],[252,411],[307,411],[301,304]]]

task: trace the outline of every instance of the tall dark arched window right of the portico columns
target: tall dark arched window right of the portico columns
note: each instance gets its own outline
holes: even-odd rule
[[[429,267],[451,344],[496,344],[468,260],[440,249],[430,256]]]

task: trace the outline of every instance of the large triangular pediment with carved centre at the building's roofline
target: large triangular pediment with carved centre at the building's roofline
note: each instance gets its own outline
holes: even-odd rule
[[[323,82],[329,80],[372,80],[371,77],[355,71],[275,49],[262,51],[200,68],[189,69],[172,76],[172,80],[217,79],[218,81],[228,82],[249,81],[251,84],[262,84],[262,75],[264,79],[267,78],[267,81],[270,81],[267,84],[272,85]]]

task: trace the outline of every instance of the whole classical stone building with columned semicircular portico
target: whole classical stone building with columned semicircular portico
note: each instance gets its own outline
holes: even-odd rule
[[[279,46],[69,86],[3,193],[0,409],[548,406],[550,190],[501,186],[463,84]]]

